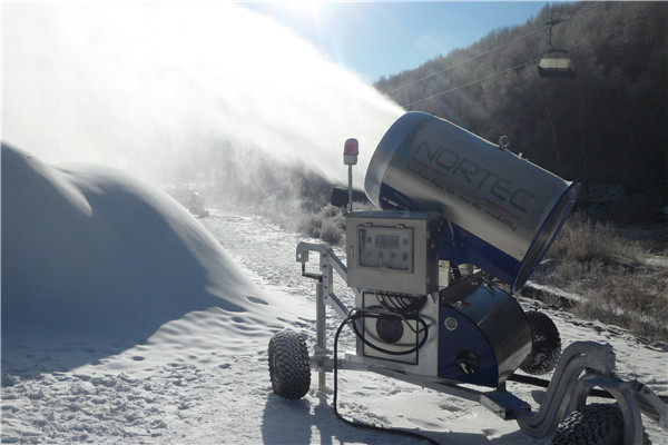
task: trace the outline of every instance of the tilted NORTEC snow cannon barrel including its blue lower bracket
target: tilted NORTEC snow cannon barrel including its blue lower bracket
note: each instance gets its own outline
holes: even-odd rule
[[[379,142],[364,188],[381,209],[440,211],[439,258],[474,264],[518,290],[580,189],[452,122],[407,112]]]

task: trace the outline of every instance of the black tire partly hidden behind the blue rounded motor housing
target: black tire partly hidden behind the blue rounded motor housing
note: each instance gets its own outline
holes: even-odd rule
[[[520,365],[527,374],[548,374],[557,367],[561,357],[561,336],[554,322],[547,315],[530,310],[527,314],[531,329],[531,354]]]

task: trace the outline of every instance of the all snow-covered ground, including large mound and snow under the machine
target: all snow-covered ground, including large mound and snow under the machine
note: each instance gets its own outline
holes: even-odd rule
[[[303,237],[224,205],[210,212],[196,220],[118,172],[55,169],[3,148],[2,443],[421,443],[340,422],[315,384],[301,400],[272,393],[271,336],[293,328],[314,344],[315,286],[295,260]],[[668,394],[667,345],[542,310],[564,344],[609,343],[622,377]],[[536,407],[542,395],[509,389]],[[348,418],[443,444],[550,442],[478,404],[369,373],[341,372],[338,400]],[[652,443],[668,444],[645,421]]]

